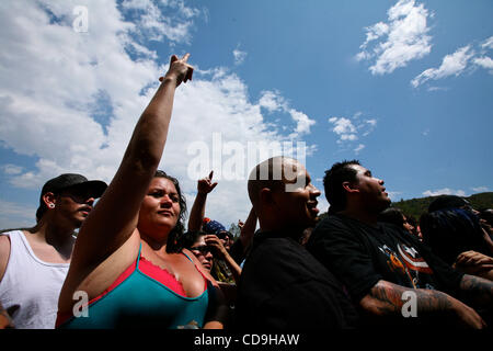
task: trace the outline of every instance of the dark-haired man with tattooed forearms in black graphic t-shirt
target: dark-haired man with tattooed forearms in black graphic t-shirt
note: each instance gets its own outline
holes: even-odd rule
[[[391,202],[382,180],[352,160],[334,163],[323,183],[330,215],[307,248],[341,279],[368,327],[485,327],[457,296],[491,308],[492,282],[452,270],[403,228],[378,223]]]

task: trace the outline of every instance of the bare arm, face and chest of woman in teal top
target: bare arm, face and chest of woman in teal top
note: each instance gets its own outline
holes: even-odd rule
[[[169,236],[179,225],[180,199],[172,181],[156,177],[175,89],[192,80],[188,58],[190,54],[182,58],[171,56],[169,70],[159,79],[161,84],[140,115],[116,174],[81,227],[60,292],[60,314],[71,313],[77,291],[85,291],[89,299],[101,295],[111,282],[135,264],[139,254],[174,275],[187,297],[203,294],[204,278],[217,287],[210,274],[200,271],[202,264],[192,252],[184,249],[181,254],[167,250]],[[217,302],[210,304],[211,313],[206,316],[204,328],[222,328],[225,309],[220,296],[213,297]]]

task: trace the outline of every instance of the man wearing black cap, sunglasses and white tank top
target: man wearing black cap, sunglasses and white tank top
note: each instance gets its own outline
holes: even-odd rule
[[[79,228],[106,183],[73,173],[45,183],[36,225],[0,234],[0,306],[15,328],[55,327],[58,295]]]

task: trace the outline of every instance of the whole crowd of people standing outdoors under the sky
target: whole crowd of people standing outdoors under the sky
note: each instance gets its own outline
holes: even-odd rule
[[[325,171],[323,219],[306,167],[279,156],[251,171],[238,238],[206,216],[213,171],[185,225],[180,182],[158,166],[188,56],[171,57],[110,184],[60,174],[43,186],[33,228],[0,233],[0,328],[493,324],[492,211],[444,195],[414,219],[357,160]]]

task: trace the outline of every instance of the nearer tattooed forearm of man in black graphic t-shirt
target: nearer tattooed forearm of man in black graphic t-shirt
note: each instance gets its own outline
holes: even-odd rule
[[[402,316],[402,306],[408,302],[404,293],[412,292],[416,297],[416,314],[447,314],[457,317],[459,324],[470,328],[485,327],[483,319],[471,307],[436,290],[409,288],[387,281],[378,281],[359,305],[376,316]]]

